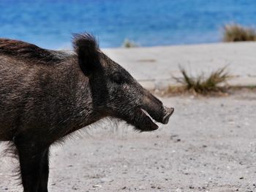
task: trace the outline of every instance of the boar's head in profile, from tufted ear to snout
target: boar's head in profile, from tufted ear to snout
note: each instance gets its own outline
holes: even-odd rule
[[[93,110],[125,120],[139,131],[156,130],[154,120],[168,123],[174,109],[165,107],[129,72],[102,53],[92,35],[75,34],[73,46],[80,69],[89,78]]]

